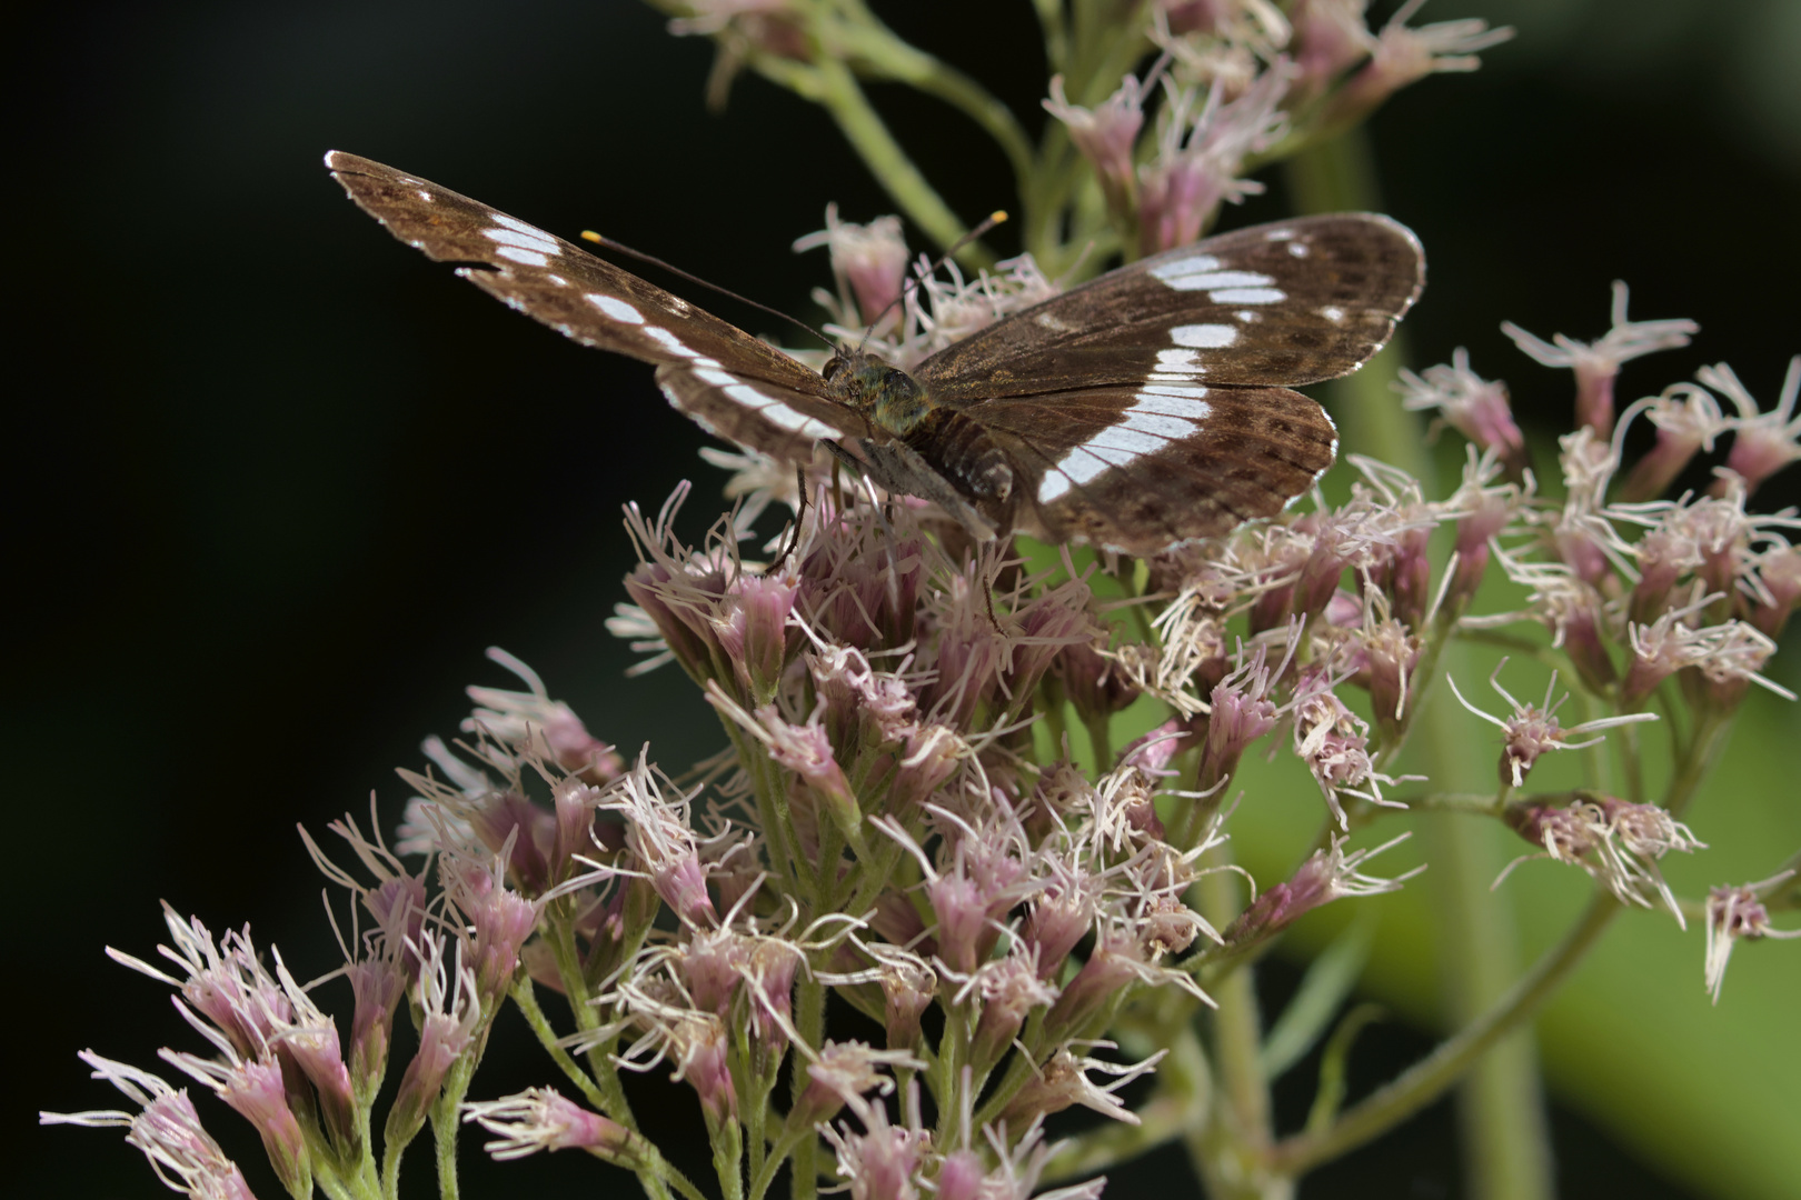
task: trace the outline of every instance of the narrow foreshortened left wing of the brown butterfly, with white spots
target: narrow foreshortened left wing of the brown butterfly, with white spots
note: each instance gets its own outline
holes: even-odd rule
[[[737,408],[729,423],[670,390],[679,408],[733,441],[789,457],[798,437],[810,444],[861,428],[823,398],[816,372],[562,237],[369,158],[331,151],[326,166],[394,237],[441,263],[472,264],[457,273],[558,333],[657,363],[674,380],[710,378],[719,396],[737,389],[746,399],[722,401]]]

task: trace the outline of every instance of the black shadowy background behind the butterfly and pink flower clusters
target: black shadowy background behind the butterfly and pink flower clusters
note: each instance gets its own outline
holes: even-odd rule
[[[1023,0],[877,7],[1037,126]],[[1561,428],[1569,376],[1520,358],[1497,324],[1592,338],[1625,277],[1634,315],[1693,317],[1702,335],[1628,365],[1623,403],[1725,360],[1772,405],[1801,349],[1801,103],[1783,67],[1801,5],[1446,2],[1426,18],[1466,11],[1522,36],[1372,128],[1387,207],[1432,259],[1412,363],[1468,345],[1527,421]],[[319,162],[330,148],[393,162],[803,311],[825,259],[789,241],[828,200],[848,219],[891,205],[823,113],[755,77],[706,115],[710,47],[661,25],[625,0],[14,16],[11,1135],[36,1108],[121,1101],[85,1079],[81,1047],[146,1067],[157,1045],[196,1049],[166,990],[101,957],[148,954],[160,898],[214,930],[252,921],[301,977],[330,968],[294,826],[366,813],[371,788],[391,820],[405,795],[391,768],[454,730],[465,684],[510,682],[484,646],[537,666],[627,750],[652,736],[665,763],[715,748],[677,675],[625,682],[630,655],[602,628],[630,563],[620,506],[654,507],[688,475],[697,516],[711,511],[702,437],[648,369],[508,315],[393,243]],[[953,207],[1010,203],[1000,158],[960,119],[899,92],[877,103]],[[1281,210],[1277,182],[1226,225]],[[1792,682],[1794,657],[1774,673]],[[1371,1081],[1417,1054],[1410,1036],[1371,1034],[1387,1047]],[[686,1123],[692,1099],[668,1096]],[[232,1119],[205,1112],[277,1195]],[[1556,1128],[1567,1195],[1599,1177],[1680,1195],[1570,1114]],[[115,1133],[29,1139],[18,1195],[160,1195]],[[1441,1105],[1304,1195],[1457,1195],[1448,1141]],[[558,1166],[582,1168],[506,1178],[566,1178]],[[411,1169],[429,1169],[423,1151]]]

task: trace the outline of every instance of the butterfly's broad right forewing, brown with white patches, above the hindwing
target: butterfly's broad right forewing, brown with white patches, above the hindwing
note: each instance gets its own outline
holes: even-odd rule
[[[1140,259],[933,354],[937,399],[1063,392],[1187,376],[1295,385],[1356,371],[1425,282],[1403,225],[1297,218]]]

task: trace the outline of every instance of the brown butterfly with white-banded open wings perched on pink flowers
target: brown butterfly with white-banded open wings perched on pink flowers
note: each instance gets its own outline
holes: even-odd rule
[[[904,372],[841,349],[823,372],[562,237],[331,151],[369,216],[584,345],[656,363],[706,432],[783,461],[825,444],[976,538],[1149,556],[1281,513],[1336,428],[1290,390],[1349,374],[1425,284],[1419,239],[1347,212],[1239,228],[1014,313]]]

